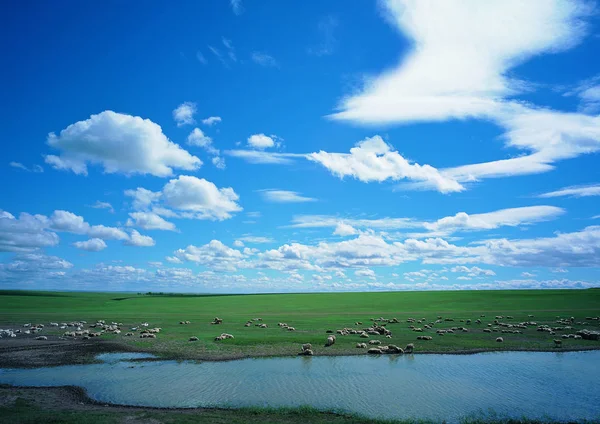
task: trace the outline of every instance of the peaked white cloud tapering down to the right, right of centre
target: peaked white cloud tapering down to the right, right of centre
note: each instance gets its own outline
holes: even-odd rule
[[[411,163],[378,135],[360,141],[350,153],[320,151],[307,155],[307,158],[339,178],[350,176],[366,183],[408,179],[426,182],[442,193],[464,190],[458,181],[442,175],[434,167]]]

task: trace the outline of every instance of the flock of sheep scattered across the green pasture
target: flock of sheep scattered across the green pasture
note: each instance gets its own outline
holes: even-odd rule
[[[485,318],[485,315],[481,315],[480,318],[476,320],[471,319],[461,319],[460,322],[464,322],[465,326],[453,326],[449,328],[437,328],[434,327],[440,324],[448,324],[453,322],[453,318],[442,318],[438,316],[435,320],[427,320],[426,318],[415,319],[408,318],[406,319],[406,323],[409,324],[408,328],[411,329],[415,333],[424,333],[431,331],[432,334],[435,332],[438,336],[444,336],[446,334],[453,333],[468,333],[470,332],[469,327],[473,327],[473,324],[477,327],[484,326],[484,333],[503,333],[503,334],[522,334],[522,330],[527,330],[529,328],[535,327],[539,332],[547,332],[549,335],[556,335],[557,332],[561,332],[561,339],[575,339],[575,340],[600,340],[600,331],[592,331],[588,329],[575,330],[573,326],[587,326],[593,324],[593,321],[600,321],[600,317],[585,317],[585,320],[576,321],[574,317],[570,318],[561,318],[556,317],[555,324],[557,325],[548,325],[548,324],[537,324],[535,321],[531,320],[533,315],[528,316],[530,320],[523,322],[512,322],[514,317],[501,316],[498,315],[494,318],[492,323],[484,324],[481,318]],[[392,338],[392,331],[387,328],[389,324],[400,324],[400,321],[397,318],[386,319],[383,317],[380,318],[371,318],[372,322],[369,326],[363,326],[363,323],[357,321],[354,323],[354,328],[345,327],[338,330],[327,330],[326,340],[324,343],[324,347],[333,346],[336,343],[337,337],[345,337],[345,336],[358,336],[360,339],[370,339],[371,336],[375,337],[385,337],[387,339]],[[509,322],[510,321],[510,322]],[[223,320],[219,317],[215,317],[210,324],[219,325],[222,324]],[[190,321],[180,321],[181,325],[189,325]],[[86,321],[72,321],[72,322],[51,322],[49,324],[50,327],[55,327],[61,330],[66,330],[62,336],[59,336],[59,339],[75,339],[81,337],[83,340],[89,340],[94,337],[100,337],[103,334],[121,334],[123,324],[120,322],[111,322],[107,323],[104,320],[98,320],[97,322],[88,325]],[[85,328],[84,327],[88,327]],[[256,326],[258,328],[268,328],[268,325],[262,322],[262,318],[253,318],[251,320],[246,321],[244,327]],[[279,322],[277,326],[285,331],[296,331],[295,327],[292,327],[284,322]],[[27,323],[22,326],[22,328],[12,330],[12,329],[0,329],[0,339],[2,338],[14,338],[19,335],[35,335],[44,330],[44,324],[31,324]],[[358,328],[356,328],[358,327]],[[362,328],[361,328],[362,327]],[[134,336],[136,333],[140,338],[146,339],[154,339],[156,335],[160,333],[162,329],[159,327],[149,328],[149,324],[147,322],[142,322],[141,324],[129,328],[129,331],[125,334],[125,336]],[[335,333],[335,334],[334,334]],[[229,333],[221,333],[217,335],[214,340],[222,341],[226,339],[233,339],[234,336]],[[430,335],[419,334],[416,337],[417,340],[420,341],[428,341],[433,340],[433,337]],[[555,347],[562,347],[563,341],[561,339],[553,339]],[[47,336],[38,335],[35,337],[35,340],[48,340]],[[199,341],[199,338],[196,336],[192,336],[188,339],[190,342]],[[504,342],[504,337],[496,337],[496,342],[502,343]],[[403,354],[403,353],[412,353],[415,349],[413,343],[409,343],[405,348],[401,348],[394,344],[386,344],[384,345],[378,339],[370,339],[368,343],[357,342],[357,349],[368,349],[367,353],[369,354]],[[301,346],[301,351],[299,355],[312,356],[315,351],[313,349],[312,344],[305,343]]]

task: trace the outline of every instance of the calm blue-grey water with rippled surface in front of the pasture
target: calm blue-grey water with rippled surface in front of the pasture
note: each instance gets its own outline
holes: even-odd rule
[[[128,361],[0,369],[0,383],[77,385],[101,402],[160,407],[300,406],[370,417],[600,418],[600,352]]]

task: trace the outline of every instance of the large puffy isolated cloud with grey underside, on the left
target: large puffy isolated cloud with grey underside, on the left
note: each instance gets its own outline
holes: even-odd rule
[[[202,161],[171,142],[149,119],[107,110],[50,133],[48,145],[61,151],[46,156],[57,169],[87,175],[87,163],[99,163],[106,173],[168,177],[173,169],[195,170]]]

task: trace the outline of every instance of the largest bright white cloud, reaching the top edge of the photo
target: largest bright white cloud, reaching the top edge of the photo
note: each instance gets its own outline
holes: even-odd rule
[[[414,46],[395,68],[345,98],[335,119],[361,123],[489,116],[522,90],[506,76],[529,57],[582,37],[581,2],[501,0],[384,3],[388,21]],[[443,69],[443,72],[440,72]]]

